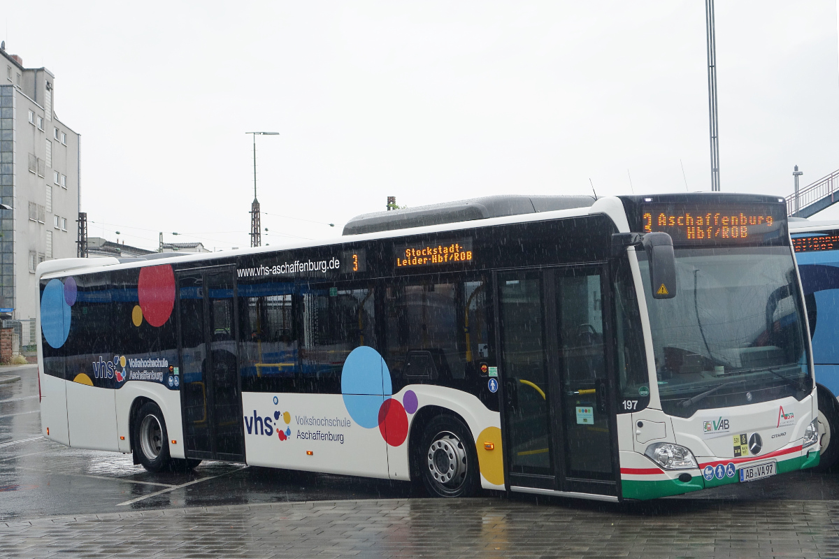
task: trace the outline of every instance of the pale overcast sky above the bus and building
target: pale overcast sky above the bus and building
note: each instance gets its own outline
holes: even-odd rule
[[[722,190],[839,168],[836,0],[716,8]],[[263,244],[388,195],[710,189],[701,0],[33,1],[0,33],[55,74],[91,236],[248,246],[253,130],[280,132],[257,138]]]

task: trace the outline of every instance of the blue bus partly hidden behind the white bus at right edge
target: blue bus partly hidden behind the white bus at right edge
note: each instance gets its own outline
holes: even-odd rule
[[[789,218],[789,235],[816,365],[821,460],[814,469],[824,471],[839,460],[839,220]]]

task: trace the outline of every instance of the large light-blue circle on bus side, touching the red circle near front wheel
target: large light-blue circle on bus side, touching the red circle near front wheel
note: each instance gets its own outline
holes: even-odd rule
[[[361,345],[347,355],[341,394],[352,421],[367,429],[378,427],[378,410],[385,396],[393,394],[390,370],[378,351]]]

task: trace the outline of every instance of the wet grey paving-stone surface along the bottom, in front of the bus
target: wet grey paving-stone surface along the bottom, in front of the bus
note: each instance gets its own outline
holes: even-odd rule
[[[0,522],[0,557],[836,557],[839,503],[383,499]]]

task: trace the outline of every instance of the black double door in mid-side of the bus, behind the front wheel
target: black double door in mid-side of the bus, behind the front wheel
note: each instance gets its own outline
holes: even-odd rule
[[[232,268],[178,273],[180,395],[187,458],[245,459],[235,301]]]

